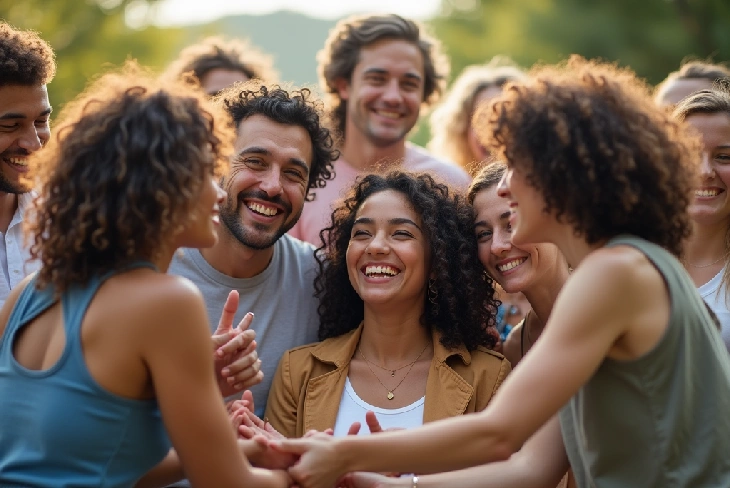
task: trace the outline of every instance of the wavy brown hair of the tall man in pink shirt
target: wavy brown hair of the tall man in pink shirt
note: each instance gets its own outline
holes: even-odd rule
[[[339,137],[345,135],[347,102],[340,99],[337,80],[352,80],[360,62],[360,50],[382,39],[402,40],[418,46],[423,56],[423,102],[438,100],[449,76],[449,59],[441,42],[424,26],[395,14],[355,15],[341,20],[330,31],[324,48],[317,53],[320,85],[328,94],[327,104]]]

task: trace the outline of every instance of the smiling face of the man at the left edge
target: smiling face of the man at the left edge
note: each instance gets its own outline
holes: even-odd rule
[[[45,85],[0,87],[0,192],[24,193],[27,158],[51,137],[51,105]]]

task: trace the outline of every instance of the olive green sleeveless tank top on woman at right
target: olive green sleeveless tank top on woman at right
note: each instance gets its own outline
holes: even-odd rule
[[[657,345],[633,361],[605,359],[560,411],[581,488],[730,487],[730,356],[681,263],[633,236],[664,277],[671,310]]]

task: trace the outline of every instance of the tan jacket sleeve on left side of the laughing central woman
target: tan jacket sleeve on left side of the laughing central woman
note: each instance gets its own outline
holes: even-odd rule
[[[291,352],[287,351],[279,361],[271,383],[264,417],[285,437],[297,437],[299,392],[294,392],[291,378]]]

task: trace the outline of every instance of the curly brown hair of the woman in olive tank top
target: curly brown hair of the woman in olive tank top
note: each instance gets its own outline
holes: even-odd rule
[[[578,56],[538,67],[475,125],[589,244],[632,234],[681,255],[700,151],[633,72]]]

